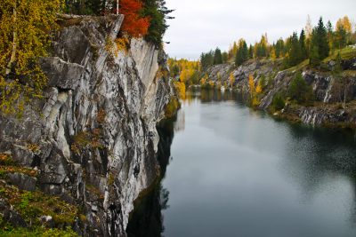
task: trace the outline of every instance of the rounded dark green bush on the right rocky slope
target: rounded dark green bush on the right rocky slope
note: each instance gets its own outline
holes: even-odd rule
[[[298,103],[307,103],[312,100],[312,86],[305,82],[301,73],[296,74],[290,83],[288,97],[295,99]]]

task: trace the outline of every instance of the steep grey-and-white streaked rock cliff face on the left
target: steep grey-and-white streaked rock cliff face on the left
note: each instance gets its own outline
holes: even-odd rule
[[[134,200],[158,176],[156,124],[172,96],[163,51],[138,39],[116,51],[122,20],[65,20],[42,59],[45,99],[20,120],[0,116],[0,153],[36,167],[44,193],[82,206],[76,229],[87,236],[125,235]]]

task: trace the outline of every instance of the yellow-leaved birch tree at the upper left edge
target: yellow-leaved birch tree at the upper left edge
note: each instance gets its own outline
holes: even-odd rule
[[[0,4],[0,111],[15,113],[38,97],[46,77],[38,59],[46,55],[61,0],[3,0]]]

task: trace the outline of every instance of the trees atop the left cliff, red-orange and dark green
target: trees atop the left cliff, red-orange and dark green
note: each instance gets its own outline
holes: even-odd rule
[[[65,0],[64,12],[77,15],[125,14],[123,30],[134,37],[160,47],[166,29],[166,20],[173,19],[165,0]]]

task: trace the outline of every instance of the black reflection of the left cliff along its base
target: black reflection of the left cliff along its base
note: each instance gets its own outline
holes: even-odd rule
[[[160,180],[166,175],[166,167],[171,156],[171,145],[174,138],[174,120],[165,120],[158,124],[158,162],[161,176],[141,200],[135,202],[134,211],[126,228],[129,237],[161,236],[164,231],[162,210],[167,209],[169,192],[163,188]]]

